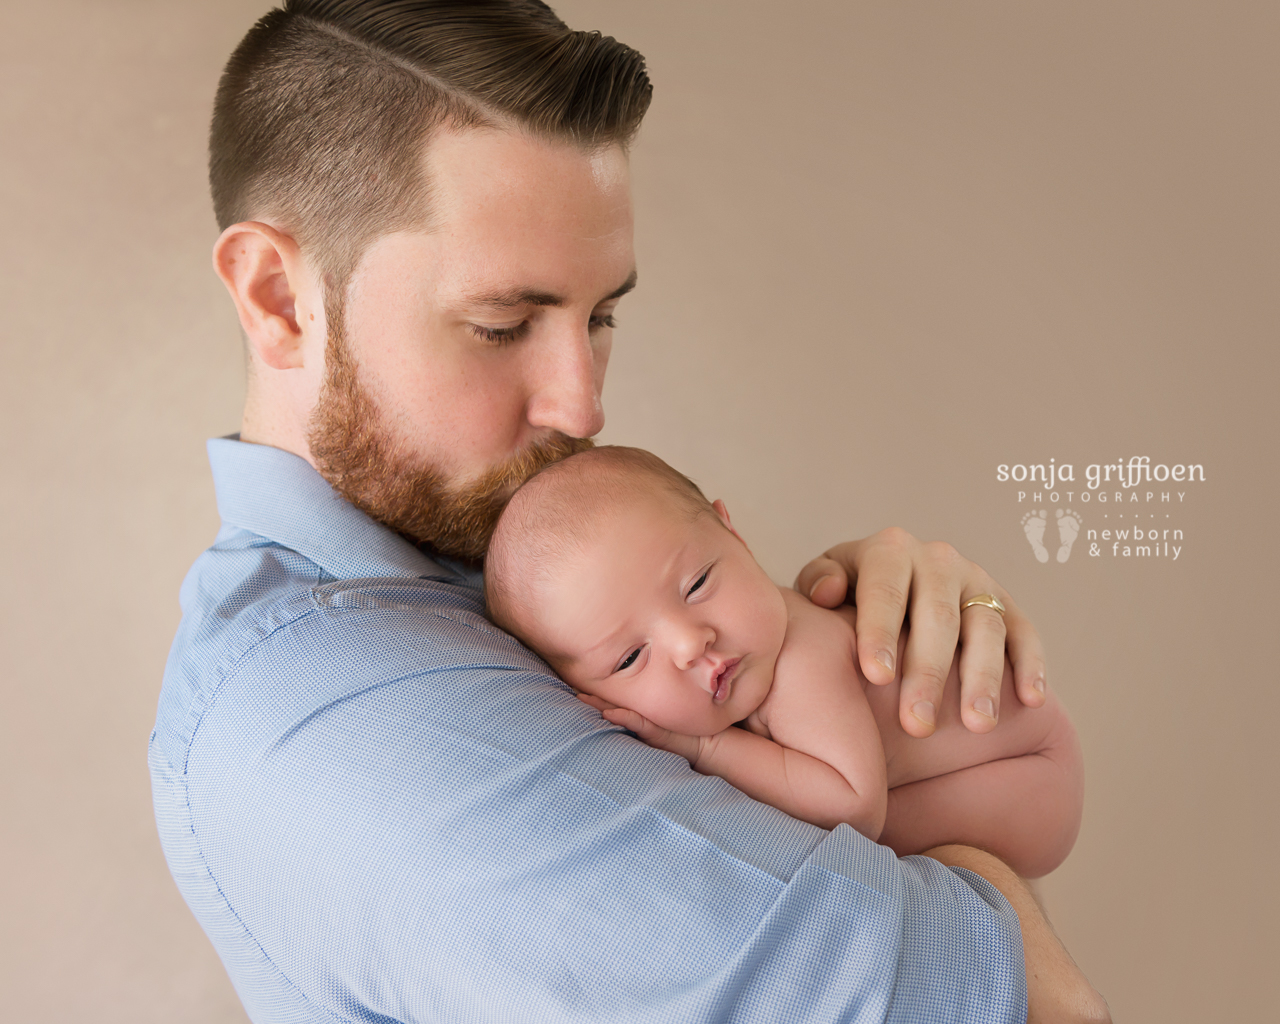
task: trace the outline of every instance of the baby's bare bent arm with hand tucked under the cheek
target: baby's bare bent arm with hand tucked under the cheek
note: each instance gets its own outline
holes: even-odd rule
[[[748,719],[751,731],[684,736],[599,698],[582,700],[650,746],[680,754],[695,771],[719,776],[748,796],[822,828],[846,822],[874,840],[888,804],[884,751],[852,672],[852,630],[792,591],[783,594],[786,640],[773,689]],[[773,739],[780,730],[786,745]]]

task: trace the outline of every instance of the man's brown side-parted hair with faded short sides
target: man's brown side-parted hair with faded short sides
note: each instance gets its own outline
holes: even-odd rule
[[[220,229],[270,219],[324,275],[326,305],[375,238],[424,227],[438,127],[518,125],[626,147],[644,58],[539,0],[287,0],[223,72],[209,133]]]

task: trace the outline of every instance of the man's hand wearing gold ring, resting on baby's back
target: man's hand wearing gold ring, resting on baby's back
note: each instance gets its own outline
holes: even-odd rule
[[[1000,584],[950,544],[922,544],[905,530],[881,530],[812,561],[795,589],[824,608],[852,598],[858,662],[879,686],[895,678],[899,634],[910,618],[899,719],[911,736],[933,732],[957,643],[960,716],[970,731],[988,732],[1000,717],[1006,646],[1019,700],[1028,708],[1044,703],[1044,650],[1036,627]],[[980,605],[961,616],[961,602],[978,594],[1000,598],[1005,616]]]

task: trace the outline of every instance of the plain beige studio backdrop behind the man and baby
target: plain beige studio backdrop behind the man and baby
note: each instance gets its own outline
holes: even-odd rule
[[[145,746],[242,397],[205,125],[265,9],[0,4],[9,1019],[243,1019]],[[607,439],[726,498],[780,580],[888,524],[983,563],[1085,746],[1043,884],[1068,945],[1117,1020],[1274,1019],[1280,8],[558,9],[657,84]],[[1167,515],[1180,558],[1036,562],[996,466],[1135,454],[1207,481],[1050,518]]]

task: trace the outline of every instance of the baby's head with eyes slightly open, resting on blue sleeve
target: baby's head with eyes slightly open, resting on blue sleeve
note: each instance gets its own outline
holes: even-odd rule
[[[787,623],[724,504],[637,448],[581,452],[520,488],[485,596],[570,686],[694,736],[760,705]]]

